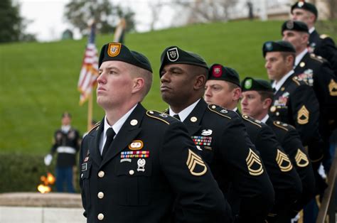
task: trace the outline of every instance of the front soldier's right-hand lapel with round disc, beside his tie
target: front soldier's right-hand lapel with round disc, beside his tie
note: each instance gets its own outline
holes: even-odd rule
[[[141,131],[140,124],[145,112],[146,109],[144,109],[144,107],[139,103],[112,141],[109,150],[103,158],[101,166],[105,165],[105,163],[107,163],[110,159],[114,158],[114,156],[117,156],[117,154],[123,151],[124,148],[139,134]],[[130,123],[133,120],[137,120],[137,124],[134,126]],[[133,121],[133,123],[134,122],[135,121]]]

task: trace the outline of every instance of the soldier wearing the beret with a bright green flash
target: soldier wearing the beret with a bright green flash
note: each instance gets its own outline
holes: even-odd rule
[[[274,121],[269,116],[268,111],[274,98],[274,92],[269,82],[246,77],[241,82],[241,88],[242,113],[252,116],[272,128],[277,140],[281,143],[282,148],[284,148],[297,173],[299,173],[302,182],[302,194],[301,198],[291,207],[289,213],[291,217],[294,217],[314,197],[315,193],[314,171],[309,156],[294,126],[281,121]]]

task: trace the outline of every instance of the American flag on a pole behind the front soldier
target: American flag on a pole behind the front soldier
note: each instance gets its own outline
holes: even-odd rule
[[[95,23],[91,26],[90,36],[85,49],[85,56],[82,62],[80,79],[77,83],[80,94],[80,105],[87,101],[87,98],[96,86],[98,77],[98,56],[95,46]]]

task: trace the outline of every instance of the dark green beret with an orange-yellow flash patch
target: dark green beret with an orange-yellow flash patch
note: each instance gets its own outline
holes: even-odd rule
[[[151,63],[144,55],[129,50],[129,48],[122,43],[107,43],[103,45],[100,60],[98,60],[98,67],[102,65],[102,62],[109,60],[127,62],[152,72]]]

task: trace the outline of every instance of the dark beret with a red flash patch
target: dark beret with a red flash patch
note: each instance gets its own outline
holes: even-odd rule
[[[210,67],[210,70],[208,70],[208,80],[225,80],[240,87],[240,77],[236,70],[220,64],[213,64]]]

